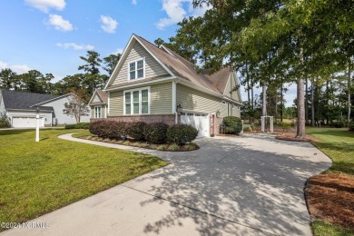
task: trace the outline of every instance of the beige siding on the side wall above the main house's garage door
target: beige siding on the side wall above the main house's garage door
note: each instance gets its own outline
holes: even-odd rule
[[[221,101],[221,98],[177,84],[176,102],[182,104],[185,112],[216,113],[220,111],[221,117],[227,116],[227,104],[223,105]]]

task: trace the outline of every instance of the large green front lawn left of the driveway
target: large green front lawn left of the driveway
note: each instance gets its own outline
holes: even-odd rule
[[[43,130],[35,143],[34,131],[0,131],[0,222],[28,221],[167,164],[58,139],[74,132],[83,130]]]

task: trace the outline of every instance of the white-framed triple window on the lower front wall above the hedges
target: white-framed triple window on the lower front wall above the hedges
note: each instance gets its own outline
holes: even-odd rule
[[[124,114],[150,113],[150,87],[124,91]]]

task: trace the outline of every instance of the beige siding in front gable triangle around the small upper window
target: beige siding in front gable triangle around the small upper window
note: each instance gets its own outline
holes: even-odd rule
[[[162,65],[159,64],[151,54],[149,54],[143,46],[135,42],[131,51],[129,52],[125,62],[123,63],[122,68],[113,82],[113,85],[126,83],[128,81],[128,64],[129,62],[145,58],[145,78],[151,78],[155,76],[162,76],[168,74],[165,69],[163,69]]]

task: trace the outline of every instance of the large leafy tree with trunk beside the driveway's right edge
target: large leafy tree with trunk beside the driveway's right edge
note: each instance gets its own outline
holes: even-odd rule
[[[304,78],[333,61],[343,64],[353,54],[353,1],[193,0],[194,6],[205,3],[213,6],[202,17],[201,27],[209,34],[199,36],[209,42],[212,68],[219,70],[225,61],[238,67],[246,61],[244,54],[256,63],[270,58],[261,65],[262,73],[272,75],[283,68],[289,75],[285,82],[298,84],[297,136],[303,138]],[[212,50],[215,45],[218,52]],[[274,51],[278,54],[268,57]]]

